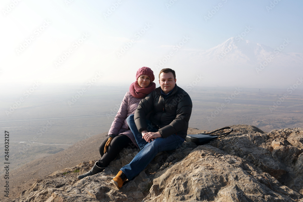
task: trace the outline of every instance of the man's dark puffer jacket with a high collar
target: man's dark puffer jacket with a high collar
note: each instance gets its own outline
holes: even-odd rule
[[[153,127],[159,128],[162,137],[177,134],[185,139],[191,116],[191,98],[177,85],[166,99],[162,96],[161,87],[158,87],[140,101],[134,116],[138,131],[140,133],[144,130],[149,131],[146,116],[151,113],[149,119]]]

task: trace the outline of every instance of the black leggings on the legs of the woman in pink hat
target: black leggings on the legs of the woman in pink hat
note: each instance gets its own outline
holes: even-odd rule
[[[99,153],[101,155],[101,158],[98,161],[99,167],[104,168],[108,166],[109,163],[118,156],[123,148],[136,148],[135,144],[129,137],[126,135],[117,135],[112,139],[111,144],[107,148],[107,152],[104,154],[104,147],[107,141],[108,138],[105,138],[99,147]]]

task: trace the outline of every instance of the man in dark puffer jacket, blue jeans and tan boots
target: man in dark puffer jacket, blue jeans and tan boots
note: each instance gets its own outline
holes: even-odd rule
[[[127,118],[141,150],[112,179],[118,189],[125,180],[132,180],[143,171],[158,152],[174,150],[185,141],[192,102],[176,81],[174,70],[162,69],[159,73],[160,87],[142,99],[135,114]],[[149,113],[150,120],[147,120]]]

